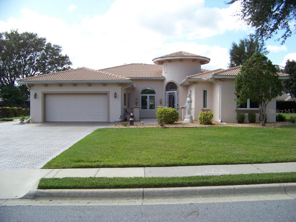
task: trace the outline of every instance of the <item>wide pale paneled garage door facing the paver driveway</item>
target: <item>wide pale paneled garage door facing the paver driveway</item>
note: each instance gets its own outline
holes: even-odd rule
[[[46,94],[46,121],[107,121],[107,94]]]

